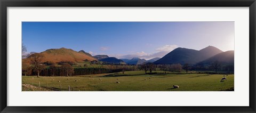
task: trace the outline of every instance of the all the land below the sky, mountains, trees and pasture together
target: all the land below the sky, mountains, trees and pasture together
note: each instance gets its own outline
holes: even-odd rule
[[[234,91],[234,51],[178,47],[145,60],[49,49],[22,59],[22,84],[22,91]]]

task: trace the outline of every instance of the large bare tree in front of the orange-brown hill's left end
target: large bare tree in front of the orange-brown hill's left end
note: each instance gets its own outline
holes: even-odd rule
[[[42,64],[43,63],[43,57],[44,57],[44,55],[40,54],[40,53],[34,53],[34,54],[31,54],[29,56],[29,59],[30,59],[31,63],[33,63],[34,68],[37,71],[37,77],[39,77],[40,70],[42,68],[44,68],[43,64]]]

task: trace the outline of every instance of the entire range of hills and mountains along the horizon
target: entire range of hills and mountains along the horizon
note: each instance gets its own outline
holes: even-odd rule
[[[178,47],[177,49],[167,53],[163,58],[153,58],[150,60],[132,58],[132,59],[117,59],[115,57],[109,57],[108,55],[94,55],[87,53],[83,50],[77,52],[64,47],[60,49],[49,49],[41,52],[44,55],[43,61],[73,61],[84,62],[85,60],[99,60],[107,63],[119,63],[119,64],[142,64],[145,62],[154,62],[155,64],[208,64],[214,61],[219,61],[225,64],[234,64],[234,51],[223,52],[217,47],[208,46],[202,50],[193,50]]]

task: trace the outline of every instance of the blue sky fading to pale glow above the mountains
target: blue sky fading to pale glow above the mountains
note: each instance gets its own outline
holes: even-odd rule
[[[28,52],[65,47],[151,59],[177,47],[234,50],[234,22],[22,22],[22,43]]]

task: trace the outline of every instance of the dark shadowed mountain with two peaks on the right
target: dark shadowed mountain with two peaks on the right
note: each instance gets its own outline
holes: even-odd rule
[[[177,48],[170,53],[163,56],[163,58],[155,61],[155,64],[173,64],[173,63],[180,63],[180,64],[196,64],[203,60],[210,58],[213,55],[221,53],[222,51],[214,46],[208,46],[202,50],[193,50],[193,49],[186,49],[186,48]]]

